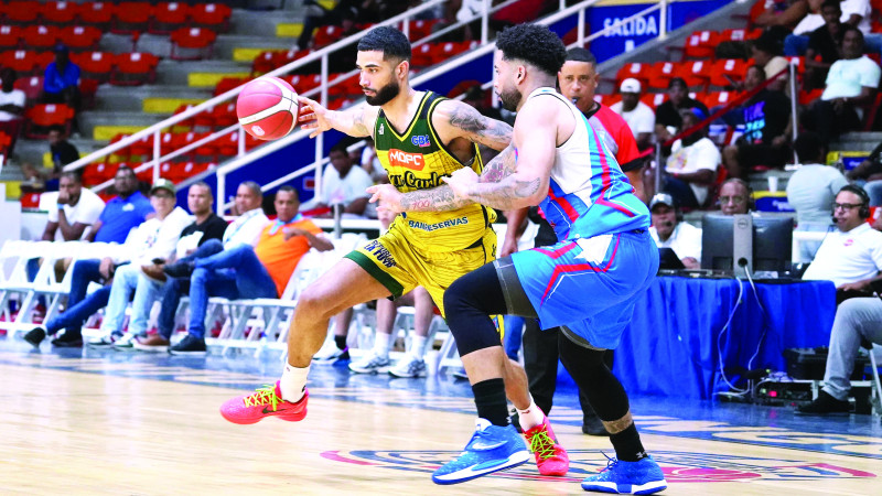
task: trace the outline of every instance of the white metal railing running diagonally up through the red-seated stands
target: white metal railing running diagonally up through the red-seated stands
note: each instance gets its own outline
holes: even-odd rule
[[[407,35],[407,34],[409,34],[409,26],[410,26],[409,21],[410,20],[413,20],[417,15],[419,15],[420,13],[422,13],[424,11],[428,11],[430,9],[434,9],[434,8],[443,4],[444,1],[445,0],[430,0],[430,1],[419,6],[417,8],[408,10],[407,12],[405,12],[402,14],[399,14],[399,15],[396,15],[396,17],[394,17],[391,19],[388,19],[388,20],[379,23],[378,25],[392,25],[394,26],[394,25],[400,23],[401,30]],[[471,19],[467,19],[467,20],[465,20],[463,22],[456,23],[455,25],[451,25],[451,26],[449,26],[449,28],[447,28],[444,30],[439,31],[438,33],[432,33],[429,36],[426,36],[423,39],[420,39],[420,40],[417,40],[416,42],[413,42],[413,46],[419,46],[422,43],[431,42],[432,40],[435,40],[435,39],[438,39],[440,36],[443,36],[449,31],[452,31],[454,29],[461,28],[461,26],[463,26],[465,24],[472,23],[475,20],[480,19],[481,23],[482,23],[482,42],[485,42],[485,43],[483,43],[481,46],[478,46],[475,50],[465,52],[463,54],[460,54],[459,56],[455,56],[455,57],[451,58],[450,61],[447,61],[447,62],[444,62],[442,64],[439,64],[439,65],[435,65],[433,67],[428,68],[427,71],[420,73],[418,76],[412,78],[411,79],[411,84],[413,86],[418,86],[418,85],[424,84],[424,83],[427,83],[429,80],[432,80],[434,77],[439,77],[439,76],[442,76],[442,75],[447,74],[451,68],[459,67],[459,66],[464,65],[464,64],[466,64],[469,62],[472,62],[472,61],[474,61],[474,60],[476,60],[478,57],[482,57],[482,56],[485,56],[485,55],[492,53],[494,47],[495,47],[495,44],[488,43],[488,40],[486,40],[487,32],[488,32],[487,31],[487,24],[488,24],[490,17],[494,12],[498,11],[499,9],[505,8],[507,6],[510,6],[512,3],[514,3],[514,1],[515,0],[509,0],[507,2],[504,2],[504,3],[499,4],[499,6],[491,8],[490,0],[484,0],[484,2],[483,2],[484,10],[483,10],[483,12],[481,14],[474,15]],[[650,7],[644,9],[644,10],[633,14],[633,15],[630,15],[630,17],[624,18],[624,19],[619,19],[616,22],[611,23],[609,26],[606,26],[605,29],[603,29],[601,31],[598,31],[595,33],[591,33],[590,35],[588,35],[587,34],[587,25],[585,25],[585,13],[587,13],[589,8],[593,7],[599,1],[601,1],[601,0],[585,0],[585,1],[581,2],[581,3],[577,3],[577,4],[571,6],[569,8],[563,8],[564,7],[564,0],[560,0],[561,10],[556,12],[556,13],[553,13],[553,14],[550,14],[550,15],[541,19],[541,20],[538,20],[537,23],[549,25],[549,24],[553,24],[556,22],[559,22],[561,20],[564,20],[567,18],[570,18],[572,15],[576,15],[577,17],[577,37],[576,37],[576,41],[573,43],[571,43],[569,46],[584,46],[585,43],[589,43],[592,40],[595,40],[595,39],[599,39],[601,36],[606,35],[609,33],[612,33],[612,32],[619,30],[622,25],[624,25],[624,24],[626,24],[628,22],[632,22],[633,20],[636,20],[638,18],[643,18],[643,17],[646,17],[646,15],[650,15],[655,11],[659,11],[660,22],[659,22],[659,30],[658,30],[658,34],[656,35],[656,39],[664,39],[664,37],[667,37],[667,10],[668,10],[668,6],[671,4],[671,3],[678,2],[678,1],[686,1],[686,0],[662,0],[662,1],[657,2],[657,3],[655,3],[655,4],[652,4]],[[340,40],[340,41],[337,41],[337,42],[335,42],[335,43],[333,43],[333,44],[331,44],[331,45],[329,45],[329,46],[326,46],[326,47],[324,47],[324,48],[322,48],[320,51],[315,51],[315,52],[313,52],[313,53],[311,53],[311,54],[309,54],[309,55],[306,55],[306,56],[304,56],[302,58],[299,58],[299,60],[297,60],[297,61],[294,61],[294,62],[292,62],[292,63],[290,63],[288,65],[279,67],[277,69],[273,69],[273,71],[267,73],[267,75],[269,75],[269,76],[278,76],[278,75],[288,74],[288,73],[290,73],[292,71],[295,71],[295,69],[298,69],[300,67],[305,66],[306,64],[319,62],[320,65],[321,65],[322,82],[325,82],[325,84],[322,84],[318,88],[312,88],[309,91],[304,91],[303,96],[316,98],[316,94],[318,94],[318,98],[316,99],[323,106],[326,106],[327,101],[329,101],[329,93],[327,93],[329,87],[332,87],[334,85],[341,84],[345,79],[347,79],[347,78],[352,77],[353,75],[357,74],[357,71],[352,71],[349,73],[345,73],[345,74],[342,74],[342,75],[337,76],[333,80],[329,80],[329,74],[330,74],[329,73],[329,57],[332,56],[333,53],[336,52],[337,50],[346,47],[346,46],[349,46],[349,45],[352,45],[354,43],[357,43],[357,41],[362,36],[364,36],[364,34],[365,33],[362,32],[362,33],[357,33],[357,34],[354,34],[352,36],[345,37],[343,40]],[[492,83],[493,83],[492,80],[485,82],[483,84],[483,86],[484,87],[488,87],[488,86],[492,85]],[[206,172],[204,172],[202,174],[198,174],[195,177],[191,177],[191,179],[184,181],[183,183],[181,183],[179,185],[179,186],[183,187],[183,186],[189,185],[191,182],[194,182],[194,181],[196,181],[198,179],[202,179],[202,177],[204,177],[206,175],[216,174],[216,176],[217,176],[217,198],[218,198],[217,211],[218,211],[218,214],[223,215],[227,211],[227,208],[232,205],[232,202],[226,202],[225,201],[226,200],[226,184],[225,184],[226,181],[225,180],[226,180],[226,176],[229,173],[232,173],[233,171],[235,171],[237,169],[240,169],[240,168],[254,162],[255,160],[258,160],[258,159],[260,159],[262,157],[266,157],[269,153],[278,151],[278,150],[280,150],[280,149],[284,148],[284,147],[288,147],[288,145],[290,145],[290,144],[292,144],[294,142],[298,142],[298,141],[303,140],[304,138],[309,137],[309,132],[303,131],[303,130],[299,130],[299,131],[295,131],[295,132],[289,134],[288,137],[281,139],[281,140],[268,142],[268,143],[262,144],[262,145],[249,151],[248,153],[246,153],[246,150],[245,150],[245,142],[246,142],[246,140],[245,140],[245,131],[241,129],[241,127],[237,122],[237,123],[235,123],[233,126],[229,126],[229,127],[227,127],[225,129],[222,129],[219,131],[211,132],[206,137],[204,137],[204,138],[202,138],[202,139],[200,139],[197,141],[194,141],[192,143],[189,143],[189,144],[186,144],[186,145],[184,145],[184,147],[182,147],[180,149],[176,149],[176,150],[174,150],[174,151],[172,151],[172,152],[170,152],[170,153],[168,153],[165,155],[163,155],[161,153],[161,136],[162,136],[163,130],[169,129],[169,128],[173,127],[174,125],[183,122],[183,121],[185,121],[187,119],[191,119],[194,116],[196,116],[197,114],[201,114],[201,112],[203,112],[205,110],[209,110],[214,106],[224,104],[224,103],[235,98],[236,96],[238,96],[238,94],[240,91],[241,91],[241,86],[236,87],[234,89],[230,89],[229,91],[226,91],[226,93],[224,93],[222,95],[218,95],[217,97],[211,98],[211,99],[208,99],[208,100],[206,100],[206,101],[204,101],[202,104],[198,104],[198,105],[196,105],[196,106],[194,106],[194,107],[192,107],[192,108],[190,108],[190,109],[187,109],[187,110],[185,110],[185,111],[183,111],[183,112],[181,112],[179,115],[172,116],[172,117],[170,117],[170,118],[168,118],[168,119],[165,119],[165,120],[163,120],[161,122],[158,122],[158,123],[155,123],[153,126],[150,126],[150,127],[148,127],[148,128],[146,128],[143,130],[140,130],[140,131],[131,134],[130,137],[127,137],[127,138],[125,138],[125,139],[122,139],[120,141],[117,141],[116,143],[108,144],[107,147],[105,147],[105,148],[103,148],[100,150],[97,150],[97,151],[95,151],[93,153],[89,153],[88,155],[77,160],[76,162],[73,162],[73,163],[66,165],[64,168],[64,170],[65,171],[73,171],[73,170],[82,169],[82,168],[84,168],[84,166],[86,166],[86,165],[88,165],[90,163],[98,162],[101,159],[107,158],[107,157],[114,154],[117,151],[123,150],[123,149],[130,147],[131,144],[142,140],[146,137],[151,137],[152,141],[153,141],[152,160],[143,162],[141,165],[139,165],[136,169],[136,172],[146,171],[146,170],[152,168],[152,170],[153,170],[153,180],[157,180],[157,179],[160,177],[160,166],[161,166],[161,164],[163,162],[168,162],[170,160],[173,160],[173,159],[175,159],[175,158],[178,158],[180,155],[183,155],[183,154],[185,154],[187,152],[191,152],[191,151],[195,150],[196,148],[200,148],[200,147],[202,147],[202,145],[204,145],[204,144],[206,144],[208,142],[212,142],[214,140],[217,140],[218,138],[222,138],[222,137],[224,137],[226,134],[229,134],[232,132],[238,132],[239,136],[238,136],[238,141],[237,141],[237,143],[238,143],[237,157],[233,158],[232,160],[228,160],[227,162],[223,163],[220,166],[218,166],[215,170],[206,171]],[[272,182],[263,185],[262,186],[263,190],[272,188],[272,187],[275,187],[275,186],[277,186],[279,184],[282,184],[284,182],[290,181],[291,179],[298,177],[298,176],[303,175],[303,174],[308,174],[308,173],[313,172],[313,171],[315,172],[315,182],[316,182],[315,188],[319,190],[321,187],[321,183],[320,183],[321,182],[321,176],[322,176],[321,168],[327,162],[326,158],[324,158],[323,153],[322,153],[322,150],[323,150],[323,138],[322,138],[322,134],[316,137],[314,150],[315,150],[315,159],[314,159],[314,162],[312,164],[306,165],[304,168],[300,168],[297,171],[294,171],[294,172],[292,172],[292,173],[290,173],[288,175],[279,177],[278,180],[272,181]],[[105,183],[101,183],[101,184],[95,186],[93,188],[93,191],[96,191],[96,192],[97,191],[103,191],[103,190],[109,187],[111,184],[112,184],[112,180],[106,181]]]

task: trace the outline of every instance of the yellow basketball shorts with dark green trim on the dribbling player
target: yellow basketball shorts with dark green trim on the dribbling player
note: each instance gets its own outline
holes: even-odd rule
[[[358,263],[398,298],[421,285],[444,315],[444,290],[456,279],[496,258],[496,233],[487,227],[472,247],[456,251],[426,251],[408,242],[392,224],[377,239],[356,248],[346,258]]]

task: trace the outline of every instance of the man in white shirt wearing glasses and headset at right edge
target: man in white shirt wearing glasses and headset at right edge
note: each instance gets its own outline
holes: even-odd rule
[[[833,203],[837,230],[824,238],[803,279],[829,280],[836,284],[837,300],[869,294],[871,284],[882,280],[882,233],[867,224],[870,198],[860,187],[839,190]]]

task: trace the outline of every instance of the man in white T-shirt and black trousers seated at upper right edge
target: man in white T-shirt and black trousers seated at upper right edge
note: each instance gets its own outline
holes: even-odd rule
[[[859,111],[872,105],[879,86],[880,68],[861,55],[863,34],[854,26],[842,31],[842,58],[830,66],[827,87],[804,115],[804,125],[820,136],[826,147],[842,132],[860,129]]]

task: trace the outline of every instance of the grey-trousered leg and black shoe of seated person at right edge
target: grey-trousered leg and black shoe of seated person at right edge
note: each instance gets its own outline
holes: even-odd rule
[[[824,388],[809,405],[796,409],[798,416],[848,414],[851,407],[851,373],[861,342],[882,345],[882,300],[854,298],[842,302],[836,310],[830,333],[830,351],[824,373]],[[872,353],[872,351],[870,352]]]

